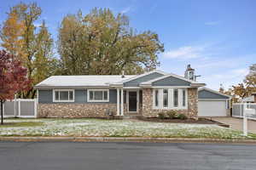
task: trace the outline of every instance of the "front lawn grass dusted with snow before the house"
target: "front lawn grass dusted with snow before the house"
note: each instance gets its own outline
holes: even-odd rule
[[[44,122],[38,127],[1,127],[0,136],[110,136],[243,139],[240,131],[209,124],[101,119],[6,119]]]

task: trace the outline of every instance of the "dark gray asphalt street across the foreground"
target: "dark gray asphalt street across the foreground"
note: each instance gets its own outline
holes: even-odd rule
[[[256,145],[0,142],[0,169],[255,170]]]

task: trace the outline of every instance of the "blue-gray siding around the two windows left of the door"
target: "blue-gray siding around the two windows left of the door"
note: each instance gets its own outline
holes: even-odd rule
[[[38,90],[38,103],[40,104],[54,104],[54,103],[63,103],[63,104],[102,104],[102,103],[116,103],[116,89],[109,89],[109,102],[87,102],[87,89],[75,89],[74,93],[74,102],[53,102],[53,90]]]

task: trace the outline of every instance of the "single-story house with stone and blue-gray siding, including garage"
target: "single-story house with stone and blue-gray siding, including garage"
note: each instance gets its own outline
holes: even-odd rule
[[[195,82],[195,70],[188,65],[184,77],[157,70],[142,75],[53,76],[35,88],[39,117],[156,117],[174,110],[197,119],[201,101],[201,111],[206,112],[202,116],[207,110],[214,116],[217,108],[224,110],[215,114],[227,116],[229,96],[203,86]]]

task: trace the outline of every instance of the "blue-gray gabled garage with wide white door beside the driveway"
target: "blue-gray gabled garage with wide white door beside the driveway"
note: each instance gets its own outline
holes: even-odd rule
[[[230,116],[230,96],[199,88],[198,116]]]

